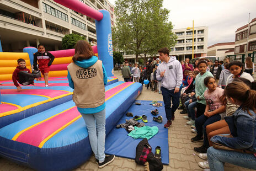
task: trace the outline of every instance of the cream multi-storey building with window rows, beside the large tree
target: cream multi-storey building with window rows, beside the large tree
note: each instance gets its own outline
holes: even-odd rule
[[[170,55],[178,56],[179,60],[192,57],[193,30],[173,29],[178,36],[177,44],[170,48]],[[194,27],[194,57],[206,56],[207,54],[208,27]]]

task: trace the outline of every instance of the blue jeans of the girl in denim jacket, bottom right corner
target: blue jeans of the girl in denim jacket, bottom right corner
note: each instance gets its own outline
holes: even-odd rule
[[[211,171],[224,170],[224,164],[226,162],[248,169],[256,169],[256,157],[253,154],[210,147],[207,149],[207,158]]]

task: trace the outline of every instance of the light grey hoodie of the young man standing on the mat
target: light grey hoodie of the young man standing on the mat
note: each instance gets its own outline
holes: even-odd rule
[[[166,72],[164,73],[164,76],[161,77],[160,73],[163,71]],[[156,78],[159,81],[161,80],[162,86],[168,90],[172,90],[176,87],[179,88],[183,79],[182,65],[176,60],[175,56],[170,56],[167,63],[163,61],[157,67]]]

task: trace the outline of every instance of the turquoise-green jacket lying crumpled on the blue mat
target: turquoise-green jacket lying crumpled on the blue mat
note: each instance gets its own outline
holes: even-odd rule
[[[131,136],[134,139],[137,138],[147,138],[147,140],[150,140],[154,135],[158,132],[157,126],[143,126],[143,127],[134,127],[135,130],[131,131],[128,135]]]

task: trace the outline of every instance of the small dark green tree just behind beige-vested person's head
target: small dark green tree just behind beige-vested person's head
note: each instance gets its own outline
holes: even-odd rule
[[[80,36],[78,34],[66,34],[64,38],[62,38],[61,46],[62,49],[74,49],[78,40],[86,40],[84,36]]]

